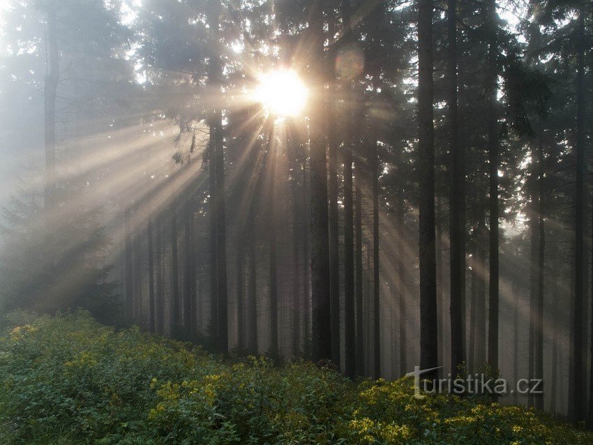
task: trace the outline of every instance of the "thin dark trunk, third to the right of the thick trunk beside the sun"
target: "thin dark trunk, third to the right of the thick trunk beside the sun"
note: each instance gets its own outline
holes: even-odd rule
[[[362,165],[356,163],[356,186],[354,202],[354,225],[356,226],[356,374],[364,375],[364,333],[363,333],[363,273],[362,273]]]

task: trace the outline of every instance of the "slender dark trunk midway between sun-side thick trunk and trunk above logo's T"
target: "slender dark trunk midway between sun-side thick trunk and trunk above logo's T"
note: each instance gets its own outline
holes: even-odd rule
[[[370,165],[373,174],[373,343],[375,349],[373,375],[378,379],[381,377],[381,282],[379,278],[379,153],[377,153],[376,142],[373,142],[370,156],[372,156]]]

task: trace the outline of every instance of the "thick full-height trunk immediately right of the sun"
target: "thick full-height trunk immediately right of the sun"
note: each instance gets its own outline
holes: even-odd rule
[[[331,360],[331,311],[329,302],[329,233],[327,211],[326,139],[324,125],[323,2],[310,10],[310,45],[313,48],[311,79],[316,93],[310,99],[311,163],[311,285],[313,299],[313,357]]]

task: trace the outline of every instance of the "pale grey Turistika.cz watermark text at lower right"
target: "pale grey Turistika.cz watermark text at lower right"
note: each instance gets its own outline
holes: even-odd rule
[[[542,379],[518,379],[514,385],[506,379],[487,377],[483,374],[470,374],[467,377],[451,377],[444,379],[421,379],[422,375],[442,368],[420,369],[414,366],[413,372],[408,372],[406,377],[414,377],[414,397],[422,399],[423,393],[450,393],[456,395],[507,395],[507,394],[543,394]]]

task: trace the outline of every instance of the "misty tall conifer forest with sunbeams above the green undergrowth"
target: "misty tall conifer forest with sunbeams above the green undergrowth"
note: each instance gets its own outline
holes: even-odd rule
[[[593,3],[0,5],[2,312],[349,377],[487,364],[593,419]],[[278,68],[303,113],[254,100]]]

